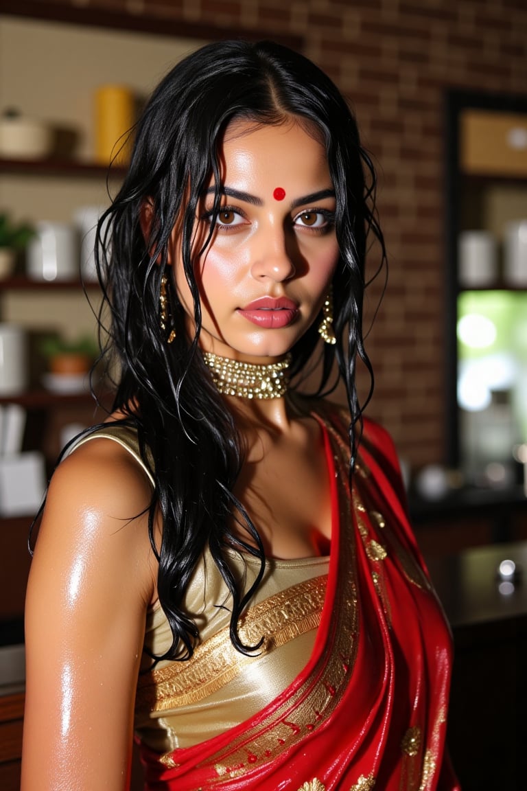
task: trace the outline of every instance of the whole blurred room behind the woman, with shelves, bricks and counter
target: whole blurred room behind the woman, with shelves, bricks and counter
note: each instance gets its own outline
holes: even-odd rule
[[[23,637],[25,539],[52,460],[94,417],[95,321],[79,274],[96,309],[92,229],[125,172],[121,136],[177,59],[232,36],[302,51],[356,112],[390,262],[367,336],[367,414],[396,441],[459,646],[451,727],[464,788],[525,788],[523,0],[1,0],[0,642]],[[6,722],[20,728],[12,705]],[[482,766],[482,750],[500,768]],[[16,755],[4,759],[14,788]]]

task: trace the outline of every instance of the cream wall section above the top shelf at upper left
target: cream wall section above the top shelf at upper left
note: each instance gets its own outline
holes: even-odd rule
[[[93,97],[99,85],[148,95],[199,42],[134,32],[0,17],[0,108],[81,132],[79,158],[92,159]]]

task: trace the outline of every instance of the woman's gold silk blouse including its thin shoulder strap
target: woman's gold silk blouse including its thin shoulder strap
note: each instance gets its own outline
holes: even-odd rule
[[[133,430],[109,424],[74,448],[100,437],[126,448],[152,481]],[[247,589],[258,574],[258,559],[229,551],[228,562]],[[160,604],[147,613],[135,706],[141,741],[161,753],[191,747],[239,725],[277,698],[311,656],[328,570],[328,557],[266,560],[265,576],[239,621],[245,645],[257,645],[265,637],[247,656],[232,645],[230,594],[206,550],[183,603],[199,630],[190,660],[161,660],[152,669],[151,655],[163,655],[172,634]]]

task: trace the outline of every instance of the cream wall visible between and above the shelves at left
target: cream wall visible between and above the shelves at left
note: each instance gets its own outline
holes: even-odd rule
[[[200,44],[0,15],[0,112],[16,107],[54,126],[73,128],[77,158],[92,161],[96,88],[119,83],[145,97],[178,59]],[[104,178],[0,173],[0,210],[9,210],[14,218],[71,222],[80,206],[107,202]],[[4,321],[56,327],[70,337],[95,327],[85,297],[74,290],[4,293],[1,303]]]

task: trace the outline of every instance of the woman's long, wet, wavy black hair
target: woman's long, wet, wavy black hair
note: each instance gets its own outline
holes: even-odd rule
[[[171,648],[158,659],[192,655],[198,630],[183,600],[207,546],[232,596],[232,642],[242,652],[254,648],[243,644],[237,623],[262,580],[265,555],[258,525],[233,494],[243,443],[198,353],[201,307],[193,264],[201,252],[193,249],[198,201],[213,177],[213,229],[220,206],[220,145],[235,119],[258,124],[294,119],[307,131],[314,129],[326,147],[340,248],[333,278],[337,343],[324,345],[321,379],[313,395],[328,390],[336,356],[352,417],[352,462],[363,410],[356,392],[357,358],[370,372],[373,387],[362,332],[368,233],[380,242],[383,261],[385,253],[375,219],[375,172],[348,105],[326,74],[287,47],[269,41],[202,47],[169,72],[146,105],[134,131],[130,168],[100,219],[96,245],[109,314],[104,354],[119,370],[113,408],[137,429],[141,453],[152,460],[155,479],[149,534],[159,561],[160,604],[173,635]],[[141,231],[145,202],[153,218],[147,241]],[[175,340],[168,344],[171,327],[160,327],[160,290],[161,278],[169,274],[168,246],[176,221],[197,329],[194,338],[186,334],[183,310],[168,277],[168,312],[175,329]],[[205,247],[209,241],[210,236]],[[292,348],[292,377],[306,369],[318,340],[315,322]],[[163,526],[159,548],[154,540],[157,513]],[[247,590],[240,589],[228,565],[228,548],[260,558],[260,573]]]

